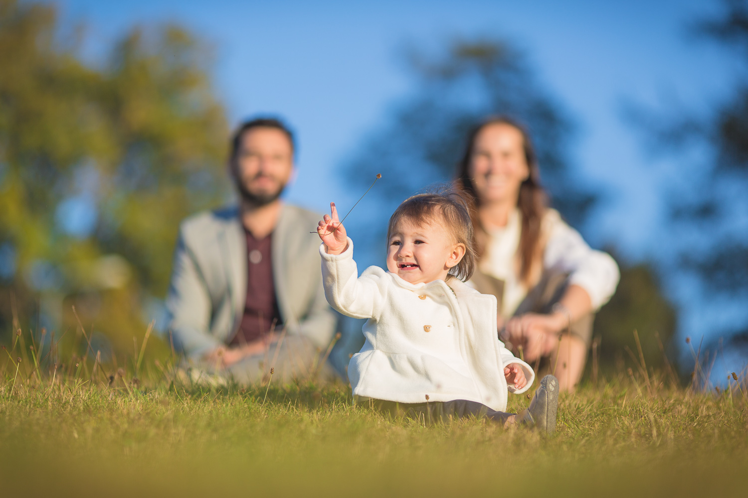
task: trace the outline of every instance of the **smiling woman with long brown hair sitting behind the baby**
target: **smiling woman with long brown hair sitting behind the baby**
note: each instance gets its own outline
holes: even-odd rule
[[[560,388],[573,390],[593,314],[616,290],[616,262],[548,207],[530,137],[512,119],[473,130],[457,183],[473,199],[479,265],[471,281],[497,297],[500,337],[536,366],[548,358]]]

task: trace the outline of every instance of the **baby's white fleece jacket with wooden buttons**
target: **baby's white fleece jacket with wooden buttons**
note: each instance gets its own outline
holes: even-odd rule
[[[507,391],[524,393],[530,365],[497,337],[496,298],[456,278],[411,284],[379,267],[358,277],[353,241],[340,255],[322,255],[325,296],[340,313],[369,319],[366,343],[353,355],[348,377],[354,396],[402,403],[468,399],[506,411]],[[454,293],[453,293],[454,291]],[[527,385],[506,385],[503,367],[520,364]]]

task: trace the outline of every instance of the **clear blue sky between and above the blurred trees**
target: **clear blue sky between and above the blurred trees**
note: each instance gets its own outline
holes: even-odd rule
[[[622,103],[705,109],[729,89],[738,69],[710,43],[687,36],[688,22],[717,10],[713,0],[57,4],[67,21],[86,22],[93,55],[135,23],[179,22],[212,43],[215,84],[232,125],[257,113],[278,113],[292,123],[299,168],[287,198],[317,211],[330,200],[347,211],[360,195],[336,180],[337,168],[411,90],[397,57],[404,43],[507,37],[530,55],[578,125],[574,166],[604,192],[594,229],[586,231],[592,244],[615,243],[634,259],[661,252],[668,236],[663,189],[689,173],[674,160],[646,154],[622,119]],[[693,287],[671,290],[698,299]],[[685,317],[692,329],[711,320],[699,316]]]

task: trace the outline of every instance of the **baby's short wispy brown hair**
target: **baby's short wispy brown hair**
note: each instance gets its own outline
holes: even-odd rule
[[[448,275],[466,281],[473,276],[476,263],[475,237],[473,223],[465,198],[459,191],[444,190],[441,192],[419,193],[408,197],[390,217],[387,227],[387,244],[392,232],[402,220],[408,220],[417,226],[441,224],[453,237],[453,243],[465,245],[465,255]]]

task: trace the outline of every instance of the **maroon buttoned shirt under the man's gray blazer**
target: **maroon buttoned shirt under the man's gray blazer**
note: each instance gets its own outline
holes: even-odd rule
[[[251,343],[268,334],[275,321],[281,323],[278,301],[275,299],[273,265],[270,251],[272,234],[257,240],[245,229],[247,237],[247,299],[239,332],[231,340],[231,345]]]

